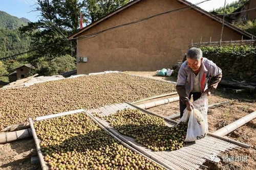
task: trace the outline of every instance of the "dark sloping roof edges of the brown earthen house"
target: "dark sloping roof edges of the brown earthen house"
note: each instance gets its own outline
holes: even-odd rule
[[[119,9],[117,9],[117,10],[115,10],[114,12],[110,13],[109,15],[106,15],[106,16],[102,17],[101,19],[98,19],[98,20],[96,20],[95,22],[91,23],[91,24],[88,25],[87,27],[84,27],[83,29],[80,29],[80,30],[77,31],[76,33],[74,33],[74,34],[72,34],[71,36],[69,36],[68,39],[73,39],[73,38],[78,37],[78,35],[81,34],[82,32],[84,32],[84,31],[86,31],[86,30],[88,30],[88,29],[94,27],[94,26],[97,25],[98,23],[100,23],[100,22],[102,22],[102,21],[108,19],[109,17],[115,15],[116,13],[118,13],[118,12],[120,12],[120,11],[122,11],[122,10],[124,10],[124,9],[126,9],[126,8],[128,8],[128,7],[130,7],[130,6],[134,5],[134,4],[136,4],[136,3],[138,3],[138,2],[140,2],[140,1],[142,1],[142,0],[135,0],[135,1],[132,1],[132,2],[130,2],[130,3],[126,4],[126,5],[124,5],[124,6],[120,7]],[[189,3],[189,2],[187,2],[187,1],[185,1],[185,0],[176,0],[176,1],[178,1],[178,2],[181,3],[181,4],[187,5],[187,6],[194,5],[194,4]],[[198,7],[198,6],[194,6],[194,7],[191,8],[191,9],[193,9],[193,10],[195,10],[195,11],[197,11],[197,12],[200,12],[201,14],[204,14],[204,15],[206,15],[207,17],[209,17],[209,18],[211,18],[211,19],[214,19],[214,20],[217,21],[217,22],[220,22],[220,23],[223,22],[223,20],[222,20],[221,18],[219,18],[219,17],[217,17],[217,16],[215,16],[215,15],[213,15],[213,14],[211,14],[211,13],[205,11],[205,10],[203,10],[202,8],[200,8],[200,7]],[[248,37],[248,38],[251,38],[251,37],[253,36],[252,34],[246,32],[246,31],[244,31],[244,30],[242,30],[242,29],[240,29],[240,28],[238,28],[238,27],[235,27],[235,26],[231,25],[231,24],[228,23],[227,21],[224,21],[224,23],[225,23],[225,26],[226,26],[226,27],[230,28],[230,29],[233,30],[233,31],[239,32],[240,34],[242,34],[242,35],[244,35],[244,36],[246,36],[246,37]],[[253,37],[256,38],[255,36],[253,36]]]

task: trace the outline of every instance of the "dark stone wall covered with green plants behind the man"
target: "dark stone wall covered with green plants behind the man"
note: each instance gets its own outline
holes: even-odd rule
[[[215,62],[223,79],[256,82],[256,48],[252,46],[201,47],[203,57]]]

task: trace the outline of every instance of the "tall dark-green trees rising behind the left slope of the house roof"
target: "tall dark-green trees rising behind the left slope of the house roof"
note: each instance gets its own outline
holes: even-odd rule
[[[41,11],[37,22],[29,22],[28,26],[20,29],[32,38],[34,51],[27,57],[33,66],[41,63],[46,72],[55,70],[49,63],[58,57],[75,54],[75,42],[68,41],[67,37],[79,28],[79,16],[82,10],[84,23],[89,24],[104,15],[128,3],[128,0],[37,0],[37,10]],[[72,45],[73,44],[73,45]],[[74,56],[72,56],[74,57]],[[44,68],[44,69],[42,69]],[[43,73],[41,73],[44,75]]]

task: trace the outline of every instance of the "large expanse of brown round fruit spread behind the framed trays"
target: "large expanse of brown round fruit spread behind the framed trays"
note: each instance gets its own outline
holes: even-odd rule
[[[173,91],[175,84],[121,73],[82,76],[0,90],[0,130],[27,122],[28,117],[81,108],[90,110]]]

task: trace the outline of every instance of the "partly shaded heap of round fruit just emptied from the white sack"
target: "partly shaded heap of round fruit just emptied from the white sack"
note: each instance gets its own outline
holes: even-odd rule
[[[187,123],[168,127],[163,118],[138,109],[119,110],[104,119],[121,134],[135,138],[153,151],[178,150],[186,138]]]

